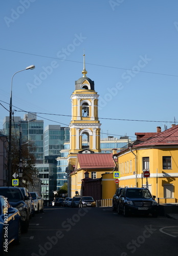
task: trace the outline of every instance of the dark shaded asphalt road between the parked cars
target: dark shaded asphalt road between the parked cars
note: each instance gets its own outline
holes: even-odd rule
[[[46,207],[30,220],[20,245],[9,245],[6,254],[174,256],[177,250],[178,220],[123,217],[110,207]]]

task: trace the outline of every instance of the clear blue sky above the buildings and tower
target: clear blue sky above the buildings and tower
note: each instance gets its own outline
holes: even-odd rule
[[[0,17],[0,129],[12,75],[30,65],[36,68],[13,78],[14,115],[42,113],[44,126],[68,126],[83,50],[103,138],[135,139],[178,121],[176,0],[9,0]]]

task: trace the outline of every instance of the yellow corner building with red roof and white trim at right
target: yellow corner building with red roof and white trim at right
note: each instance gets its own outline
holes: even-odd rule
[[[115,154],[115,157],[118,158],[121,187],[147,186],[159,203],[177,202],[178,125],[154,133],[151,138]],[[148,178],[144,177],[146,174]]]

